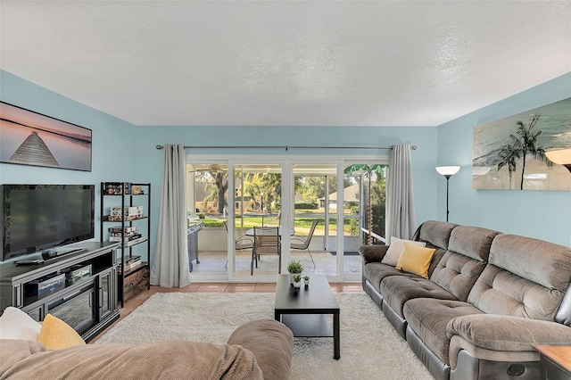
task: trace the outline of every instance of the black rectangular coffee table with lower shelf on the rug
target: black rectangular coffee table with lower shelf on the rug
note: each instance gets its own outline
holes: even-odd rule
[[[327,321],[333,314],[333,329]],[[333,359],[341,357],[339,305],[325,276],[313,275],[310,286],[294,289],[289,274],[277,275],[274,318],[288,326],[294,336],[333,338]]]

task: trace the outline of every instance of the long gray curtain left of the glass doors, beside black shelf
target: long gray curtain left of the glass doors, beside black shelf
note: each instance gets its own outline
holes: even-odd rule
[[[164,145],[161,213],[154,249],[151,285],[190,284],[186,245],[186,151],[184,145]]]

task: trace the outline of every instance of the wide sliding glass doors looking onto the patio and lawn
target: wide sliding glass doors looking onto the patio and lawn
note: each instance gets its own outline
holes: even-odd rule
[[[308,275],[359,281],[360,244],[369,232],[384,235],[379,161],[193,156],[188,162],[188,223],[201,226],[191,279],[274,282],[289,260],[300,260]],[[367,165],[378,167],[368,174]],[[268,240],[257,238],[261,228],[279,235],[279,251],[264,246],[256,253],[256,244]]]

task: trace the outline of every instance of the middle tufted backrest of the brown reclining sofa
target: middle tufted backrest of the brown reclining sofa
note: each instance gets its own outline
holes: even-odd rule
[[[448,251],[437,263],[430,279],[460,301],[466,301],[485,268],[496,235],[497,231],[486,228],[455,227],[451,231]]]

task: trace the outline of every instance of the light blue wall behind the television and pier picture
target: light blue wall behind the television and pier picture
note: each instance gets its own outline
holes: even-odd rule
[[[95,237],[99,240],[99,186],[104,181],[134,181],[132,140],[135,127],[0,70],[0,100],[93,131],[92,171],[0,163],[0,184],[95,185]]]

